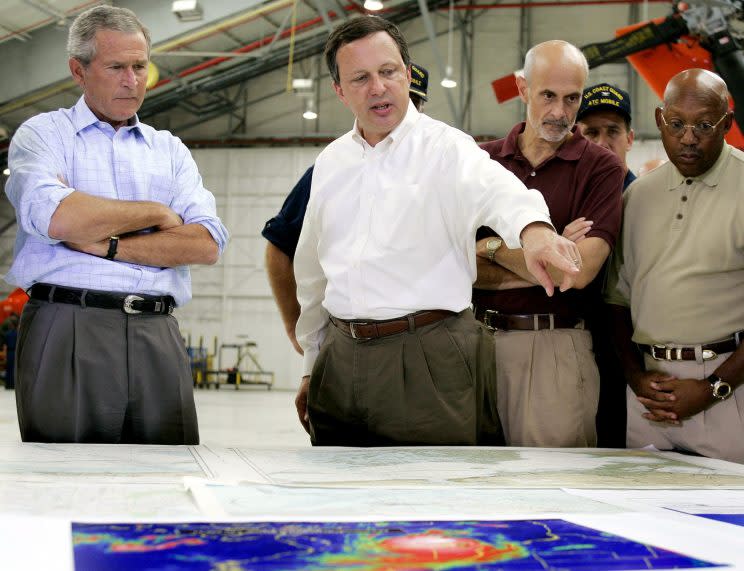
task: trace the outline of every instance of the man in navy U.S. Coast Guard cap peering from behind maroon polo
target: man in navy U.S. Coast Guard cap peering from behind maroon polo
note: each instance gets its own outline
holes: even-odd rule
[[[627,188],[636,178],[626,162],[634,137],[630,128],[630,109],[627,91],[609,83],[598,83],[584,90],[576,116],[584,137],[612,151],[625,164],[623,188]]]

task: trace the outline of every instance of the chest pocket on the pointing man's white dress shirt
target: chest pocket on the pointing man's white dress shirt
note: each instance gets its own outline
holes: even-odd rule
[[[371,212],[371,235],[381,249],[410,250],[426,238],[429,216],[418,184],[383,187]]]

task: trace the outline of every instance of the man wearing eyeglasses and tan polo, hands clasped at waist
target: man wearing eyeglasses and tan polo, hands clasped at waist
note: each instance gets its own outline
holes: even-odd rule
[[[728,90],[674,76],[656,110],[668,163],[625,194],[605,297],[628,382],[629,447],[744,462],[744,153]]]

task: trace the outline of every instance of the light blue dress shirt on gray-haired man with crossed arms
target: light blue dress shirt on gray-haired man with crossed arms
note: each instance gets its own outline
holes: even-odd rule
[[[81,97],[26,121],[9,151],[5,192],[16,210],[18,233],[13,265],[5,276],[28,288],[36,282],[191,299],[187,266],[160,268],[106,260],[71,250],[49,236],[59,203],[75,190],[102,198],[161,202],[201,224],[222,253],[227,229],[217,217],[214,196],[204,188],[191,153],[168,131],[140,123],[118,130],[100,121]]]

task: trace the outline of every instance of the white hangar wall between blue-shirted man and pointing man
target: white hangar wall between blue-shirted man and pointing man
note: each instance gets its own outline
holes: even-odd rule
[[[271,296],[261,230],[319,152],[315,147],[193,151],[231,238],[218,264],[192,268],[194,298],[178,310],[181,329],[194,345],[203,338],[210,353],[215,336],[218,344],[255,342],[259,362],[276,375],[276,387],[297,386],[302,359],[287,340]],[[248,361],[244,366],[250,368]]]

